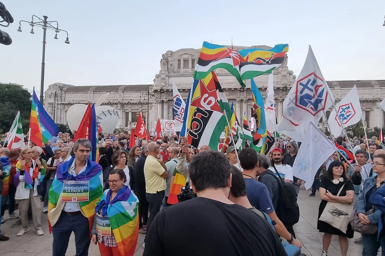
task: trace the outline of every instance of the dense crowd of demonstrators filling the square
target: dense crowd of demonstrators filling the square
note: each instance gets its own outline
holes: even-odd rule
[[[8,219],[16,220],[12,227],[22,227],[17,236],[32,226],[42,235],[41,218],[47,213],[55,256],[65,255],[72,232],[77,255],[88,255],[91,241],[99,245],[102,256],[132,255],[138,233],[145,234],[143,255],[177,255],[188,248],[191,255],[290,256],[285,241],[298,250],[302,247],[293,228],[303,183],[292,170],[300,143],[290,138],[279,138],[265,156],[247,146],[240,151],[229,146],[221,153],[222,139],[218,148],[198,149],[176,134],[157,140],[99,134],[96,163],[89,159],[90,141],[73,141],[74,135],[76,131],[60,132],[42,147],[30,143],[21,150],[0,148],[0,177],[10,166],[7,191],[0,196],[1,216],[8,207]],[[355,240],[363,244],[362,254],[377,255],[380,247],[385,248],[385,149],[377,138],[365,135],[335,142],[341,148],[320,166],[309,195],[319,193],[321,199],[321,255],[328,255],[334,234],[346,256],[354,231],[362,233]],[[186,178],[196,198],[169,200],[176,173]],[[65,193],[79,186],[86,198]],[[327,212],[351,219],[336,226],[326,220]],[[103,221],[107,231],[100,228]],[[90,239],[84,239],[87,236]],[[130,243],[123,241],[128,238]],[[0,241],[8,239],[0,233]]]

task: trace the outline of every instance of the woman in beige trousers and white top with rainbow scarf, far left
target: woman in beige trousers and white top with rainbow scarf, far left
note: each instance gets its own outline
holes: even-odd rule
[[[15,199],[19,201],[20,219],[22,220],[22,230],[17,233],[17,236],[22,236],[28,232],[28,208],[30,204],[36,233],[39,236],[44,234],[41,223],[41,197],[37,190],[40,184],[41,163],[39,159],[32,159],[34,153],[33,148],[23,148],[20,152],[21,159],[16,163],[16,175],[13,178],[13,184],[16,187]]]

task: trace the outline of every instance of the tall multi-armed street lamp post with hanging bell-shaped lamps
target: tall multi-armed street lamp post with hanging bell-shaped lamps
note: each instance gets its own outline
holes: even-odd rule
[[[33,22],[33,18],[37,18],[39,21],[38,22]],[[17,29],[18,32],[22,32],[22,29],[21,29],[21,23],[22,22],[27,22],[31,27],[31,31],[30,33],[31,34],[34,34],[35,32],[33,31],[33,27],[41,27],[43,28],[43,56],[42,56],[42,71],[41,71],[41,77],[40,77],[40,103],[42,103],[43,105],[43,100],[44,100],[44,70],[45,70],[45,36],[46,36],[46,33],[47,33],[47,29],[50,29],[50,30],[54,30],[55,31],[55,37],[54,39],[57,39],[57,33],[59,33],[60,31],[64,31],[65,33],[67,33],[67,38],[65,39],[64,43],[70,43],[70,41],[68,40],[68,32],[66,30],[63,30],[63,29],[60,29],[59,28],[59,23],[56,21],[56,20],[53,20],[53,21],[47,21],[47,16],[43,16],[44,19],[41,19],[39,17],[37,17],[36,15],[32,15],[32,20],[31,22],[27,22],[26,20],[20,20],[19,22],[19,28]],[[56,27],[54,27],[53,25],[51,25],[51,23],[56,23]]]

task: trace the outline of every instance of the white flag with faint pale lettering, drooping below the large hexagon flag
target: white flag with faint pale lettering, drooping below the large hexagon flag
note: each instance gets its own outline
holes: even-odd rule
[[[336,150],[335,145],[320,129],[313,123],[309,123],[293,164],[293,176],[306,181],[305,188],[308,190],[313,185],[318,168]]]

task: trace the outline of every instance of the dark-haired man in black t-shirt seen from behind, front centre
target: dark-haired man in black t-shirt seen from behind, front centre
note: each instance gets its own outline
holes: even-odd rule
[[[144,256],[287,255],[264,219],[228,199],[230,163],[223,153],[195,155],[189,177],[198,197],[157,214],[147,230]]]

